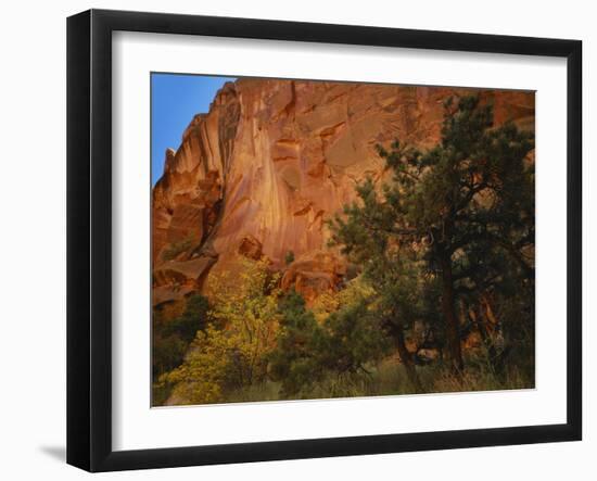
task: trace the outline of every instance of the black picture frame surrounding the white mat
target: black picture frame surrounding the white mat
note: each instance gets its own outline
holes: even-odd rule
[[[112,448],[112,33],[186,34],[567,59],[567,422],[142,451]],[[89,471],[582,438],[582,42],[90,10],[67,20],[67,463]]]

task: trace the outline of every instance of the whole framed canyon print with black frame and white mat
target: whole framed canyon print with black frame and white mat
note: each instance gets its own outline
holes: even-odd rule
[[[575,40],[67,23],[67,461],[580,440]]]

